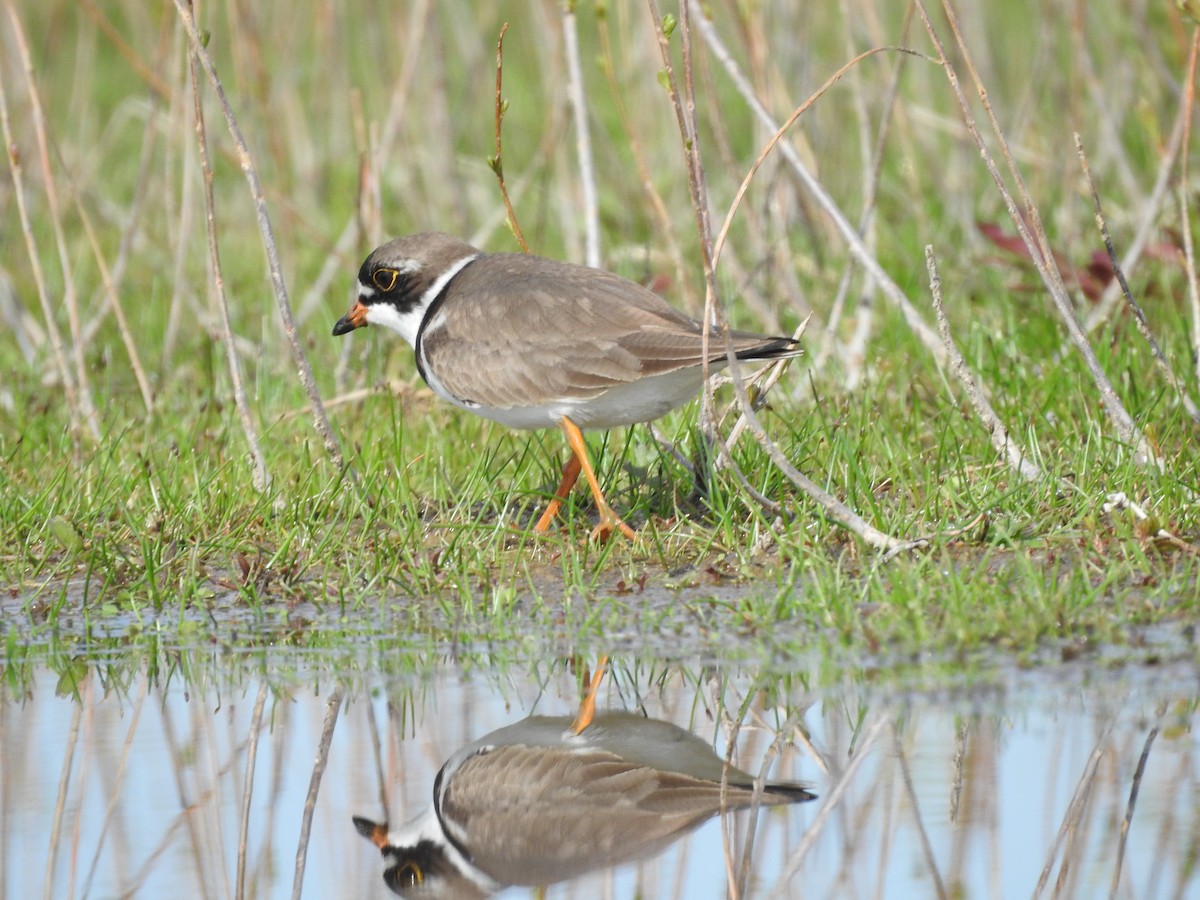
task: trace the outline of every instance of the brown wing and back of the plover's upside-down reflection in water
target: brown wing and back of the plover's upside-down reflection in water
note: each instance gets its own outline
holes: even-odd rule
[[[751,793],[728,790],[734,808]],[[658,853],[720,808],[719,785],[613,754],[503,746],[455,772],[442,815],[490,876],[546,884]]]

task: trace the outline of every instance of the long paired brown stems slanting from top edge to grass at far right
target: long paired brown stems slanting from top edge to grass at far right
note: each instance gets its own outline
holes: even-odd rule
[[[946,13],[946,18],[950,25],[950,31],[954,35],[955,47],[959,50],[964,66],[966,66],[967,73],[971,76],[972,84],[979,96],[979,102],[982,103],[984,113],[988,116],[992,134],[1000,145],[1001,156],[1004,158],[1004,164],[1007,166],[1008,173],[1013,179],[1013,184],[1016,186],[1016,192],[1021,198],[1025,214],[1024,216],[1020,211],[1018,211],[1016,203],[1013,199],[1012,193],[1009,193],[1008,187],[1004,185],[1004,180],[1001,176],[995,161],[991,158],[991,154],[988,151],[988,145],[979,132],[978,124],[976,122],[974,115],[971,113],[971,107],[967,102],[966,95],[962,92],[962,88],[959,84],[958,73],[946,55],[946,48],[942,46],[937,30],[934,28],[934,23],[929,17],[924,1],[916,0],[916,2],[917,8],[920,11],[922,20],[925,23],[925,30],[929,34],[929,38],[937,50],[942,70],[944,71],[947,80],[950,84],[950,89],[954,92],[954,97],[958,101],[967,131],[971,133],[972,139],[979,149],[979,154],[996,185],[996,190],[1004,200],[1004,208],[1008,210],[1009,217],[1013,220],[1018,233],[1021,235],[1021,240],[1025,242],[1025,246],[1030,252],[1030,258],[1033,260],[1038,274],[1042,276],[1042,281],[1054,301],[1058,317],[1062,319],[1068,334],[1070,335],[1072,343],[1084,359],[1085,366],[1092,377],[1097,392],[1100,395],[1100,403],[1103,404],[1110,421],[1116,427],[1117,437],[1123,443],[1133,448],[1135,462],[1145,466],[1160,467],[1162,463],[1154,454],[1153,448],[1151,448],[1145,434],[1142,434],[1136,422],[1134,422],[1133,416],[1129,415],[1129,412],[1124,408],[1124,404],[1117,396],[1116,390],[1112,388],[1112,383],[1109,380],[1108,374],[1105,374],[1104,368],[1096,358],[1096,352],[1087,342],[1087,335],[1084,332],[1084,329],[1079,323],[1079,318],[1075,316],[1070,296],[1068,295],[1067,288],[1062,281],[1062,274],[1055,264],[1050,241],[1046,238],[1045,229],[1042,227],[1042,217],[1038,214],[1036,204],[1033,203],[1033,198],[1030,196],[1030,192],[1025,186],[1025,180],[1021,178],[1016,162],[1013,160],[1013,155],[1008,148],[1008,140],[1004,138],[1004,133],[1000,127],[1000,122],[997,121],[991,108],[991,103],[988,101],[988,91],[979,78],[978,71],[976,70],[971,52],[967,48],[966,40],[962,37],[958,17],[950,6],[949,0],[942,0],[942,10]],[[1026,218],[1030,223],[1028,227],[1026,227]]]

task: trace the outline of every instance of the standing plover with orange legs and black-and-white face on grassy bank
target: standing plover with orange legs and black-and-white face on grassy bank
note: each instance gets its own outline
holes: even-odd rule
[[[545,532],[582,472],[600,514],[594,539],[632,538],[604,498],[582,430],[647,422],[703,385],[704,325],[653,292],[599,269],[484,253],[437,232],[384,244],[359,270],[358,298],[334,325],[386,325],[416,352],[433,392],[512,428],[557,426],[571,457],[534,530]],[[790,337],[730,335],[739,360],[800,353]],[[725,365],[709,331],[708,366]]]

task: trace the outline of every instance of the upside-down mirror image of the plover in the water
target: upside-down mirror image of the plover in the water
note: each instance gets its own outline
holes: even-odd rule
[[[355,817],[404,896],[482,898],[652,857],[722,810],[814,799],[806,786],[727,767],[701,738],[659,719],[530,716],[446,760],[433,804],[389,832]],[[724,782],[722,782],[724,779]]]

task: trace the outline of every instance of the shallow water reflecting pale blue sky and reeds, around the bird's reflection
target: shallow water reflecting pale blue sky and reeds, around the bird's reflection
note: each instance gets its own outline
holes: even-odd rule
[[[456,749],[530,713],[571,716],[580,697],[580,676],[553,660],[421,658],[396,676],[365,655],[287,650],[151,662],[10,670],[2,896],[236,896],[242,833],[246,896],[289,896],[298,881],[304,896],[388,896],[352,816],[403,822]],[[767,760],[818,798],[713,818],[547,895],[1106,896],[1118,860],[1117,896],[1195,895],[1198,688],[1182,664],[929,691],[614,659],[601,708],[674,722],[721,754],[738,722],[738,766]]]

